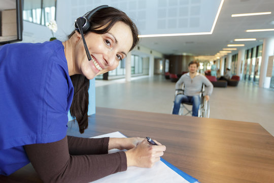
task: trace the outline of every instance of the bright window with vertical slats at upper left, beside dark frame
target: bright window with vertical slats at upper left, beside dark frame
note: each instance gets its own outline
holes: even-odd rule
[[[23,20],[46,25],[56,17],[57,0],[24,0]]]

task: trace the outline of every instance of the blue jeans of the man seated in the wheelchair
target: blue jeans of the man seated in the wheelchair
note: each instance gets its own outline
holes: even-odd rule
[[[181,103],[192,103],[192,116],[198,116],[198,110],[200,106],[200,97],[199,96],[185,96],[179,94],[175,97],[173,114],[178,114],[180,110]]]

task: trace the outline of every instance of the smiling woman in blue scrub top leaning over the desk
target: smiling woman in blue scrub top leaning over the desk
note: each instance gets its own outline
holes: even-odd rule
[[[163,155],[165,146],[138,137],[66,136],[68,109],[80,132],[87,128],[89,79],[114,70],[138,43],[134,23],[115,8],[96,11],[90,22],[91,61],[77,31],[63,43],[0,47],[0,174],[31,162],[44,182],[89,182],[128,166],[151,167]],[[129,150],[108,155],[113,148]]]

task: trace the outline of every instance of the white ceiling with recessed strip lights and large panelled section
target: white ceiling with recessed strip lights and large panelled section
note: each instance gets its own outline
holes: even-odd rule
[[[61,0],[58,0],[61,1]],[[207,33],[208,35],[141,38],[140,45],[165,55],[185,54],[213,60],[216,53],[237,38],[256,41],[236,42],[249,49],[274,37],[274,31],[246,33],[246,29],[274,28],[274,0],[72,0],[71,19],[100,5],[124,11],[138,26],[140,35]],[[80,3],[81,2],[81,3]],[[271,12],[268,15],[231,17],[231,14]],[[214,22],[216,19],[216,24]],[[271,24],[271,22],[273,24]],[[212,29],[214,27],[214,29]],[[212,33],[212,34],[211,34]],[[238,47],[243,49],[243,47]],[[134,49],[141,56],[149,56]],[[232,51],[232,54],[237,51]],[[142,55],[143,54],[143,55]]]

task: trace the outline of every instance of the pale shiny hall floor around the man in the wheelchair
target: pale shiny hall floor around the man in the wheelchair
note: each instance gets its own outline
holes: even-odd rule
[[[175,83],[161,75],[96,80],[96,106],[170,114]],[[210,117],[259,123],[274,136],[274,90],[239,82],[237,87],[214,88]]]

